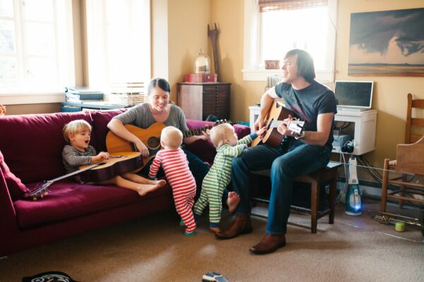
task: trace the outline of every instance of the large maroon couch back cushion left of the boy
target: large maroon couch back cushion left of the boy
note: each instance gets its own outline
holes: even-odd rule
[[[0,118],[0,150],[10,170],[23,183],[64,175],[61,152],[64,125],[74,119],[91,123],[88,112],[22,114]],[[90,144],[95,143],[92,138]]]

